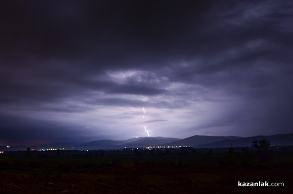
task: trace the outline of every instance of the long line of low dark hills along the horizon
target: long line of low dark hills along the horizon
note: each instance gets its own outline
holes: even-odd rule
[[[97,140],[85,143],[78,142],[61,142],[32,146],[13,146],[6,148],[0,146],[0,151],[3,150],[26,150],[31,149],[49,149],[49,148],[64,148],[76,150],[101,150],[101,149],[123,149],[123,148],[146,148],[147,146],[190,146],[194,148],[221,148],[221,147],[246,147],[251,146],[253,140],[266,139],[271,142],[271,146],[286,146],[293,145],[293,133],[276,134],[268,136],[251,136],[247,138],[238,136],[201,136],[194,135],[185,139],[164,138],[164,137],[139,137],[127,140]]]

